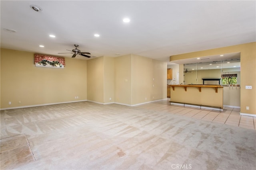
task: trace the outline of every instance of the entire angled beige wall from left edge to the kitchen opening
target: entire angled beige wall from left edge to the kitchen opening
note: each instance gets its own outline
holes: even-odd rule
[[[1,49],[1,109],[80,100],[131,106],[166,98],[165,62],[137,55],[65,60],[64,69],[36,67],[34,53]]]

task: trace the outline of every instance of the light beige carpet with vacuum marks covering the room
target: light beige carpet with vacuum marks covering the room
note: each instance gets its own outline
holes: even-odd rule
[[[256,131],[154,105],[77,102],[1,111],[1,139],[26,134],[36,159],[5,169],[255,169]]]

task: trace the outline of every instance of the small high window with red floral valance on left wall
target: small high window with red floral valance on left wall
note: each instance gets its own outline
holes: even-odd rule
[[[34,64],[37,67],[64,68],[65,58],[35,54],[34,55]]]

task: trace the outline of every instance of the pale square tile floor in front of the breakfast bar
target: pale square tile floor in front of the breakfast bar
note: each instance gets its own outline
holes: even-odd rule
[[[224,107],[223,111],[212,109],[200,109],[170,104],[168,100],[136,106],[153,110],[166,111],[168,113],[193,117],[205,121],[214,121],[228,125],[256,130],[256,117],[240,115],[240,108]],[[171,108],[171,109],[170,109]]]

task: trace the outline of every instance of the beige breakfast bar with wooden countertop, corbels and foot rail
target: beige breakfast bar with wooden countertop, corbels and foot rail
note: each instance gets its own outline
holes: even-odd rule
[[[223,87],[221,85],[168,85],[170,102],[223,109]]]

